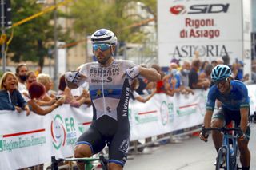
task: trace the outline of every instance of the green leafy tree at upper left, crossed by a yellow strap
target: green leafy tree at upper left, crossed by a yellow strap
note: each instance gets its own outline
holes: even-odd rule
[[[11,6],[13,23],[37,14],[43,7],[35,0],[15,0],[12,1]],[[8,51],[9,56],[13,56],[11,57],[12,61],[34,61],[43,67],[44,58],[48,55],[48,49],[54,42],[54,26],[50,23],[52,18],[53,12],[14,27],[14,38],[10,42]],[[7,30],[9,35],[10,31]],[[58,40],[67,40],[66,35],[68,34],[59,33]]]

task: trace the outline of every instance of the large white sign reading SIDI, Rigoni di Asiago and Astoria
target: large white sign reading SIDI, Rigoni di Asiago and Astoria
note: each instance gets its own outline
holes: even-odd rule
[[[242,0],[158,0],[158,57],[202,60],[243,56]]]

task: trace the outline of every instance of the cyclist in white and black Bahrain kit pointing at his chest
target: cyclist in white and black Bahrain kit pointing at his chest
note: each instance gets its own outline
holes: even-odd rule
[[[126,163],[130,142],[128,104],[130,81],[141,75],[149,81],[159,81],[155,69],[135,65],[132,61],[115,60],[118,43],[115,34],[100,29],[91,36],[96,62],[81,65],[78,72],[66,73],[66,83],[77,88],[84,81],[89,83],[93,105],[93,121],[90,128],[78,138],[74,157],[90,157],[109,146],[108,168],[119,170]],[[78,163],[84,169],[84,164]]]

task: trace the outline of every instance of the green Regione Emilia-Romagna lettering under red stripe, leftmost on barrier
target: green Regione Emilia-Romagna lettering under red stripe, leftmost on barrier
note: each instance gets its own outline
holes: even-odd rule
[[[0,136],[0,152],[12,152],[14,149],[42,146],[46,144],[46,130],[38,129],[27,132],[17,132]],[[43,134],[42,134],[43,133]]]

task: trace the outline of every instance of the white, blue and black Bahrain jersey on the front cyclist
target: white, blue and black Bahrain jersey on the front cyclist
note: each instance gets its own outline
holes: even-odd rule
[[[82,65],[80,73],[86,75],[89,83],[93,120],[97,121],[103,115],[116,121],[122,121],[124,117],[128,119],[130,80],[126,76],[126,69],[134,66],[134,62],[124,60],[115,60],[107,67],[98,62]]]

